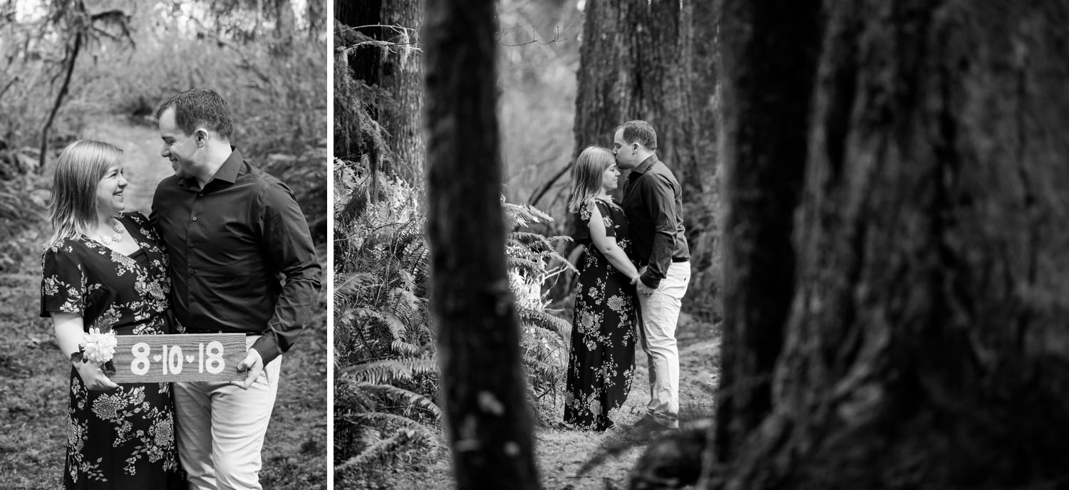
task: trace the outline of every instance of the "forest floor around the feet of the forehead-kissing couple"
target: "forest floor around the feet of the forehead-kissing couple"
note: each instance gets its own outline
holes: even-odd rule
[[[702,322],[683,313],[676,332],[680,351],[680,420],[682,427],[711,417],[713,394],[719,381],[721,331],[718,326]],[[563,428],[538,428],[534,432],[536,464],[542,488],[546,490],[606,490],[628,488],[629,473],[652,442],[635,437],[633,426],[646,413],[650,400],[646,354],[636,349],[635,378],[628,401],[614,420],[616,427],[605,431]],[[439,451],[434,460],[419,458],[398,468],[388,483],[370,488],[451,490],[455,488],[448,451]],[[592,467],[592,468],[590,468]],[[336,487],[369,488],[340,476]]]

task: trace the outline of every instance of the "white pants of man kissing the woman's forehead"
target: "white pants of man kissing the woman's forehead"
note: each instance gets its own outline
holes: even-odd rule
[[[679,349],[676,323],[691,282],[691,263],[672,263],[665,279],[651,295],[638,295],[639,338],[649,362],[650,404],[647,416],[665,426],[679,428]]]

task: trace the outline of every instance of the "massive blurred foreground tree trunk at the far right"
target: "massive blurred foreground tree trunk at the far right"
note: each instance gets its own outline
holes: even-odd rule
[[[724,487],[1059,488],[1069,2],[823,9],[772,412]]]

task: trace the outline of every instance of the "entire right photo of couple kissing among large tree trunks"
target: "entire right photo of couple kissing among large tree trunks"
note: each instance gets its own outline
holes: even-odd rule
[[[1069,1],[332,22],[335,488],[1069,488]]]

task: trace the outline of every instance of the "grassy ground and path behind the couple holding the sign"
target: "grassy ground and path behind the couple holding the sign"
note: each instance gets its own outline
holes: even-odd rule
[[[90,125],[83,136],[119,145],[130,181],[127,210],[148,214],[153,190],[171,168],[159,156],[156,129],[124,120]],[[37,243],[0,274],[0,481],[3,488],[62,487],[69,368],[38,318],[41,249],[47,221],[30,226]],[[326,249],[317,248],[323,270]],[[326,281],[309,327],[283,355],[282,379],[263,449],[260,481],[270,489],[325,489],[327,474]]]

